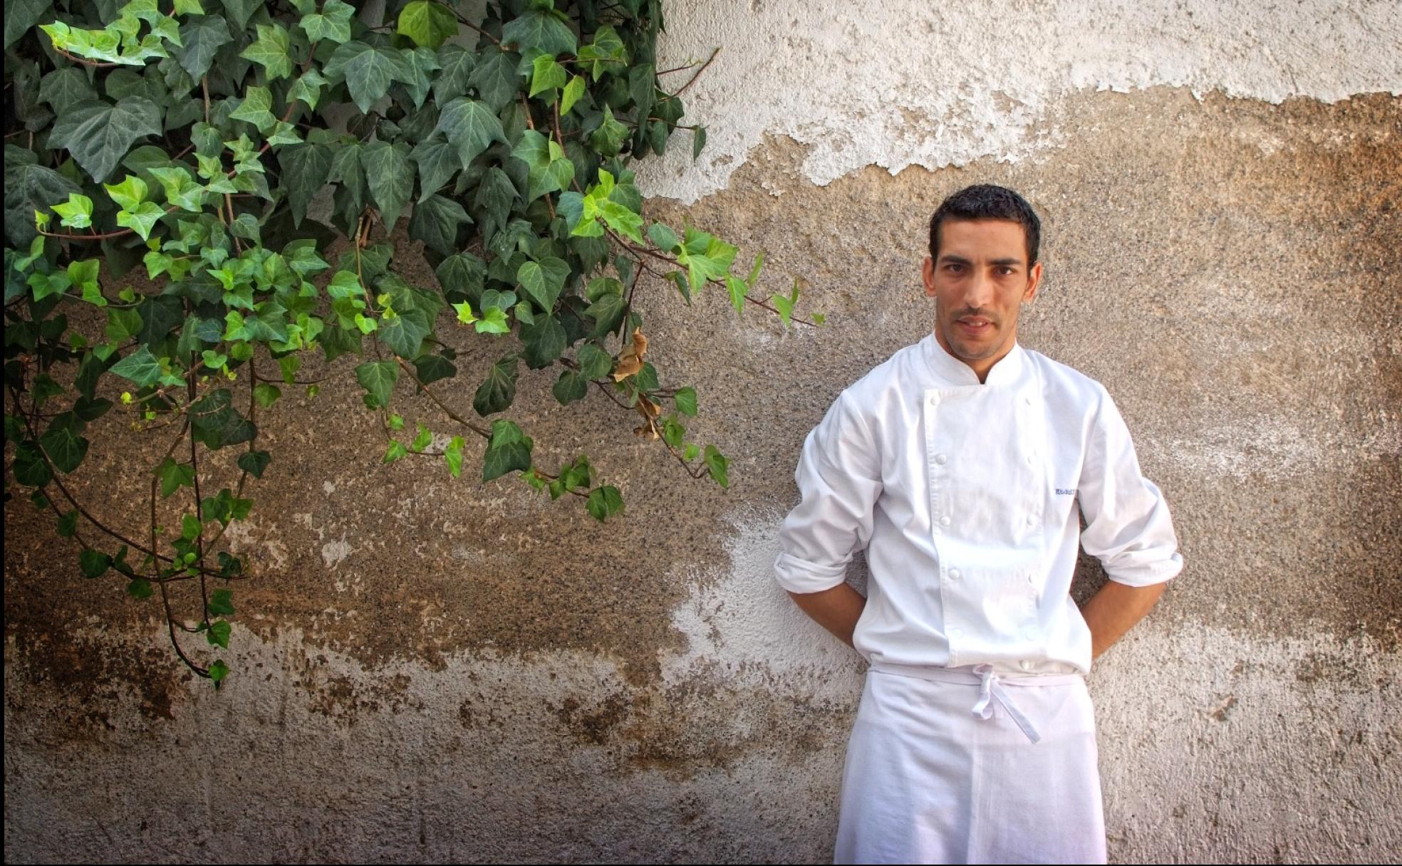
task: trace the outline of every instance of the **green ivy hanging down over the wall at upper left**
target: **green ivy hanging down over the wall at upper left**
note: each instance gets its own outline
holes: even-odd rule
[[[586,454],[536,465],[510,419],[522,364],[558,369],[564,405],[599,390],[681,471],[723,488],[729,461],[687,439],[697,391],[663,384],[638,301],[665,287],[690,305],[714,287],[736,314],[823,324],[794,317],[796,286],[757,291],[758,258],[737,263],[725,240],[644,214],[632,161],[679,129],[693,158],[705,146],[681,122],[705,66],[656,69],[659,0],[374,8],[6,4],[6,500],[28,488],[79,542],[84,576],[158,597],[179,659],[216,687],[231,587],[248,577],[222,542],[272,460],[259,429],[286,391],[317,394],[299,378],[308,352],[345,356],[328,369],[363,388],[384,462],[440,458],[457,478],[479,440],[482,482],[520,478],[606,520],[620,489]],[[395,231],[422,245],[436,284],[401,273]],[[495,360],[460,369],[463,341]],[[437,413],[411,425],[407,394]],[[108,412],[165,444],[130,503],[149,514],[142,531],[74,495]],[[216,479],[207,454],[222,448],[240,450],[237,478]],[[157,503],[177,496],[178,525],[158,525]]]

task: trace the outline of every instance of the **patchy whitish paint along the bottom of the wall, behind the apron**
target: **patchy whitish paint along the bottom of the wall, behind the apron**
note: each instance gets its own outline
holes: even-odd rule
[[[610,659],[479,652],[443,670],[391,661],[367,671],[308,649],[296,629],[264,642],[236,625],[224,691],[188,684],[174,722],[105,734],[101,765],[7,750],[7,781],[27,792],[22,810],[7,810],[7,838],[55,845],[36,823],[57,825],[59,848],[80,859],[144,859],[156,848],[254,860],[827,859],[859,664],[774,583],[775,528],[747,516],[725,573],[702,575],[704,589],[676,610],[688,649],[663,660],[663,688],[721,681],[743,691],[746,708],[830,699],[847,716],[829,719],[829,748],[638,765],[627,738],[582,743],[559,719],[569,702],[590,710],[637,699]],[[158,629],[150,643],[167,649]],[[25,664],[13,649],[7,675]],[[1168,633],[1150,618],[1089,682],[1117,856],[1202,862],[1276,849],[1356,862],[1402,846],[1389,818],[1398,781],[1377,760],[1402,747],[1402,656],[1366,638],[1252,639],[1211,624]],[[704,689],[669,701],[718,741],[756,733],[757,715],[719,712]],[[128,695],[109,709],[135,715],[135,703]],[[7,703],[14,737],[28,740],[35,724]],[[237,806],[248,802],[258,809]]]

